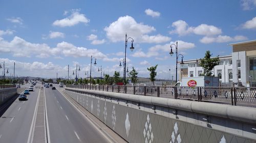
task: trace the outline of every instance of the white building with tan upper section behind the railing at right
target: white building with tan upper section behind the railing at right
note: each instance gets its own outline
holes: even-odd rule
[[[256,40],[229,44],[232,55],[219,56],[219,65],[212,70],[212,75],[218,76],[221,83],[238,83],[242,86],[256,86]],[[183,61],[178,73],[182,77],[200,76],[203,68],[199,66],[200,59]],[[179,62],[180,63],[180,62]]]

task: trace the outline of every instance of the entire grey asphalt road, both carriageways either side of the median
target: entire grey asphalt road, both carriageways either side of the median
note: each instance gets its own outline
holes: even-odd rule
[[[51,87],[42,90],[45,92],[49,125],[45,124],[49,130],[48,142],[110,142],[58,90],[52,90]],[[0,118],[0,142],[30,142],[33,135],[33,142],[39,142],[35,137],[37,133],[31,130],[33,120],[35,124],[38,120],[34,119],[35,109],[40,107],[41,99],[44,101],[38,93],[39,88],[34,88],[27,101],[18,101],[17,98],[6,110]],[[37,112],[39,113],[39,108]]]

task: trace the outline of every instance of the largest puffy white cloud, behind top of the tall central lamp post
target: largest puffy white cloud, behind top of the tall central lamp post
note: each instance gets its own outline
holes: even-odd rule
[[[131,16],[119,17],[104,28],[106,36],[112,42],[124,41],[125,33],[127,38],[132,37],[136,43],[161,43],[170,40],[169,37],[162,35],[148,36],[148,33],[156,31],[155,27],[137,23]]]

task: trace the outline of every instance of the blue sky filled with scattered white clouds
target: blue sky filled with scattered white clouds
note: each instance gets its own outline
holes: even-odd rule
[[[175,77],[176,56],[170,45],[178,41],[184,60],[231,55],[228,44],[256,39],[256,0],[9,0],[0,1],[0,63],[15,76],[44,78],[92,77],[120,71],[127,40],[126,66],[139,77]],[[175,47],[173,46],[175,52]],[[93,58],[93,63],[94,59]],[[181,56],[179,56],[179,61]],[[169,70],[170,69],[170,70]],[[3,75],[3,68],[0,69]]]

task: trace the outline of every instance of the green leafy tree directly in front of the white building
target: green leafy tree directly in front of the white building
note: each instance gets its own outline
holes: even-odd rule
[[[200,59],[201,63],[199,65],[203,67],[203,76],[211,76],[211,70],[219,64],[219,55],[216,58],[210,58],[211,55],[210,51],[206,51],[204,58]]]

